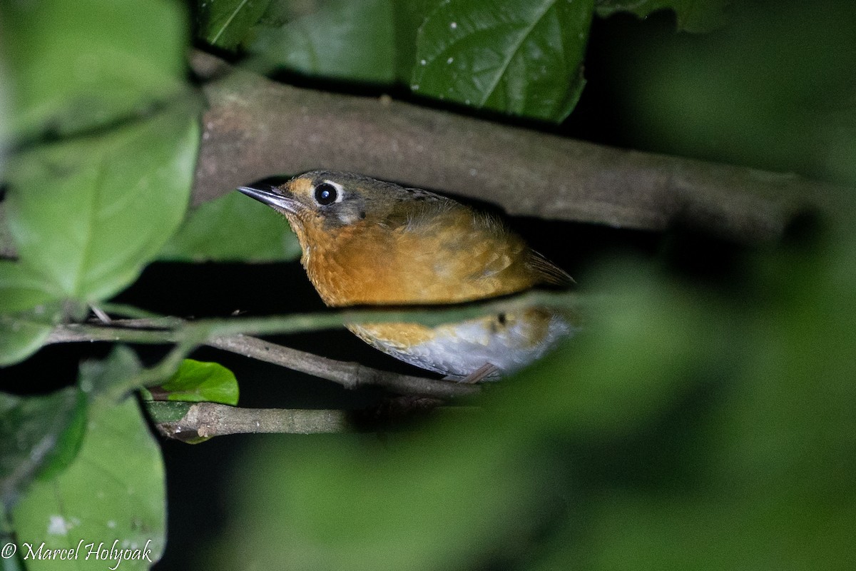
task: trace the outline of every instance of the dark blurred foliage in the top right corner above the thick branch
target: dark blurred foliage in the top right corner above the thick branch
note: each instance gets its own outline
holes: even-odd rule
[[[853,4],[732,11],[719,33],[667,33],[615,57],[635,124],[629,144],[829,178],[829,159],[847,151],[836,135],[856,134]]]

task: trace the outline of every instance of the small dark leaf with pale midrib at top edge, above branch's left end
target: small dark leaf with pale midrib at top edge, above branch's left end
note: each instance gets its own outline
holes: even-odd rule
[[[211,45],[234,50],[265,14],[270,0],[197,0],[197,35]]]

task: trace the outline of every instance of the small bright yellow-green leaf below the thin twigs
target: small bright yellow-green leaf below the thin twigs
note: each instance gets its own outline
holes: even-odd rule
[[[235,373],[219,363],[185,359],[169,381],[146,393],[148,400],[219,402],[234,407],[238,404],[238,381]]]

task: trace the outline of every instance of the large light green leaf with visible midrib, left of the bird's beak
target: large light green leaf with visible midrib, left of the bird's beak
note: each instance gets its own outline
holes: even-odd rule
[[[9,229],[42,288],[97,302],[155,257],[187,208],[199,140],[193,105],[16,158]]]

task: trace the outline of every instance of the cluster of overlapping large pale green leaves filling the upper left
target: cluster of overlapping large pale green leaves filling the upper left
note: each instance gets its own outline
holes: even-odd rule
[[[12,140],[65,138],[23,146],[5,175],[18,259],[0,265],[3,298],[12,300],[2,309],[13,313],[3,317],[13,342],[3,343],[0,362],[37,349],[57,306],[78,315],[132,283],[187,208],[199,104],[181,82],[184,18],[168,2],[114,4],[114,12],[100,3],[4,7]],[[24,21],[39,27],[24,33]],[[93,62],[91,72],[75,74],[69,54],[76,65]]]

